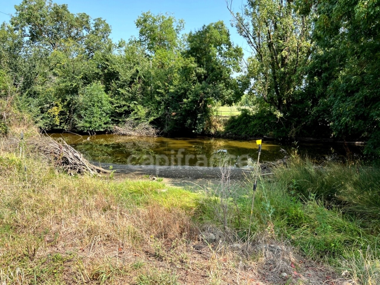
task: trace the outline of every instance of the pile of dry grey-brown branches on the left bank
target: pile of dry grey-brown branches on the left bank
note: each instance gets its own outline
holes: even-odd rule
[[[44,157],[51,160],[55,166],[67,173],[88,173],[91,175],[110,173],[106,169],[92,165],[80,152],[69,146],[63,139],[55,141],[50,137],[41,137],[33,141],[32,144],[37,147]]]

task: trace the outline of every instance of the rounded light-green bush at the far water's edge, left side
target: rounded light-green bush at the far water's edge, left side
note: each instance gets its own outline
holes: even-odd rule
[[[104,87],[97,82],[84,88],[78,97],[76,128],[79,131],[103,131],[110,127],[111,105]]]

